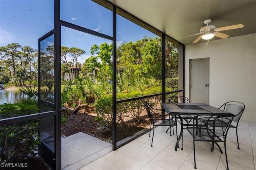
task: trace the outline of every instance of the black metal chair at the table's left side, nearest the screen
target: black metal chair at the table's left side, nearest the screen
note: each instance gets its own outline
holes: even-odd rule
[[[155,127],[158,126],[168,126],[169,128],[166,130],[166,133],[170,129],[170,136],[172,136],[171,133],[171,127],[176,125],[176,122],[172,119],[170,115],[163,115],[163,114],[158,114],[156,111],[162,111],[163,109],[155,109],[150,104],[147,102],[143,102],[143,105],[148,113],[148,117],[150,118],[150,132],[149,132],[149,137],[151,133],[151,127],[153,125],[153,135],[152,135],[152,142],[151,142],[151,147],[153,146],[153,139],[154,139],[154,129]],[[153,116],[154,115],[154,116]]]

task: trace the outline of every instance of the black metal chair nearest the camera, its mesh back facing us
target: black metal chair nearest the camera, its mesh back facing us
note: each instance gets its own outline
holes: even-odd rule
[[[194,147],[194,168],[196,169],[196,151],[195,141],[211,142],[211,151],[214,149],[214,144],[218,146],[221,153],[222,150],[218,142],[224,142],[226,164],[228,170],[228,158],[226,152],[226,136],[230,128],[233,117],[224,117],[225,114],[217,115],[196,115],[191,117],[190,121],[193,122],[193,127],[187,128],[190,135],[193,137]],[[200,116],[200,117],[199,117]],[[224,137],[224,138],[223,138]]]

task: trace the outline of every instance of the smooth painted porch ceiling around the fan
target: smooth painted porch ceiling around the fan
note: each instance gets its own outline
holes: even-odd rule
[[[230,37],[256,33],[256,0],[109,1],[184,45],[192,44],[199,35],[180,38],[199,33],[207,19],[217,28],[242,23],[244,28],[221,31]],[[211,40],[216,39],[220,38]]]

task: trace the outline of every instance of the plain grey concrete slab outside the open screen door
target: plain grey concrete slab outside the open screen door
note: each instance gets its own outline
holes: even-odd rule
[[[112,151],[112,145],[79,132],[62,138],[62,170],[77,170]]]

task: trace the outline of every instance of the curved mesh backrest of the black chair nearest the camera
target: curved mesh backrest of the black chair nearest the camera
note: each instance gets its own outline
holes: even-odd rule
[[[210,137],[209,140],[218,141],[221,136],[226,136],[232,123],[232,117],[220,115],[194,117],[194,134],[201,137]]]

